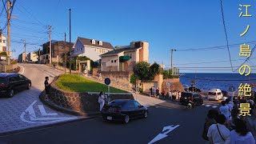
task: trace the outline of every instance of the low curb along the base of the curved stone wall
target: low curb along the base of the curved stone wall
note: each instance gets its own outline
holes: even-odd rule
[[[80,111],[66,109],[62,106],[58,106],[58,105],[54,104],[54,102],[45,101],[45,97],[44,97],[45,95],[44,94],[45,94],[45,91],[42,91],[42,93],[39,95],[40,101],[43,104],[45,104],[46,106],[49,106],[50,108],[52,108],[54,110],[58,110],[62,113],[72,114],[72,115],[76,115],[76,116],[83,116],[83,117],[98,116],[98,115],[101,114],[100,112],[82,113]]]

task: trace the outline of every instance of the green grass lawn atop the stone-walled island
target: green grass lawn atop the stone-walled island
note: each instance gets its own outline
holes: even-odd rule
[[[80,75],[63,74],[58,78],[56,85],[58,88],[71,92],[107,92],[107,86],[102,83],[91,81]],[[110,93],[127,93],[110,86]]]

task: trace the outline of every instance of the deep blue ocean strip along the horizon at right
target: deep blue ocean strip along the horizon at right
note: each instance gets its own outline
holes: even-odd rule
[[[234,86],[238,90],[240,83],[256,83],[256,74],[244,76],[240,74],[227,74],[227,73],[185,73],[180,77],[182,85],[190,85],[190,81],[196,82],[195,87],[202,90],[209,90],[212,88],[220,90],[229,90],[230,86]]]

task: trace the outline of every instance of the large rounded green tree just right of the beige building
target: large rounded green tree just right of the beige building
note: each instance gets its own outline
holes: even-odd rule
[[[140,80],[149,80],[150,64],[148,62],[136,63],[134,74],[138,76]]]

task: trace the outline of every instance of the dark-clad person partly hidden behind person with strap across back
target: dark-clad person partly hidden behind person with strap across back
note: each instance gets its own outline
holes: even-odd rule
[[[206,141],[209,141],[208,137],[207,137],[207,133],[209,130],[209,127],[213,124],[216,124],[216,118],[218,115],[218,110],[209,110],[207,117],[206,117],[206,122],[204,124],[204,128],[202,131],[202,138],[205,139]]]

